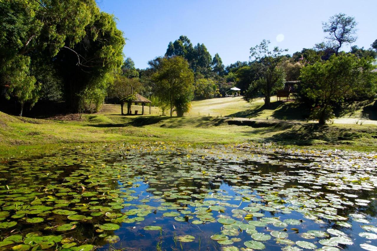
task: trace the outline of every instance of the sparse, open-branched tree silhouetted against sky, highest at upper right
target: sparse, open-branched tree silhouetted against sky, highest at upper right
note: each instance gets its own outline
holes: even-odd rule
[[[354,17],[346,16],[343,13],[334,15],[328,22],[322,23],[323,32],[329,34],[325,38],[329,41],[329,47],[334,48],[336,55],[339,54],[339,49],[343,44],[351,44],[357,40],[356,25]]]

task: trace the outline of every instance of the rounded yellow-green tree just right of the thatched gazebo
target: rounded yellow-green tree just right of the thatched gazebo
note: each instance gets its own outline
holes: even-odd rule
[[[159,64],[152,79],[156,84],[156,95],[169,103],[171,117],[174,106],[178,104],[179,111],[182,111],[185,110],[182,106],[187,107],[190,104],[193,97],[194,74],[189,68],[189,63],[180,56],[163,58]]]

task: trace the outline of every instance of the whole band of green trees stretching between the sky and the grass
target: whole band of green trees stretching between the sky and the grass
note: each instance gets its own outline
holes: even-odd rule
[[[250,61],[225,67],[219,54],[212,57],[204,44],[193,46],[182,35],[146,69],[124,60],[124,34],[114,19],[95,0],[1,1],[2,104],[17,103],[20,115],[25,105],[29,109],[37,102],[60,102],[67,112],[96,112],[104,100],[123,106],[139,93],[163,113],[169,108],[183,115],[191,100],[236,92],[231,87],[241,89],[248,101],[263,95],[270,106],[270,96],[285,81],[300,80],[294,86],[297,101],[323,122],[345,101],[376,95],[377,40],[369,49],[353,45],[341,51],[357,38],[357,23],[345,14],[323,23],[322,43],[293,54],[270,49],[270,41],[263,40],[250,48]]]

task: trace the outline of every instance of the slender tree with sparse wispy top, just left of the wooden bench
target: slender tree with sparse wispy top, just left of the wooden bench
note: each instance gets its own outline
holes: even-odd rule
[[[255,58],[257,67],[259,68],[260,78],[257,81],[258,86],[261,86],[262,93],[264,93],[264,104],[270,107],[271,92],[282,86],[284,81],[284,70],[280,67],[280,62],[284,59],[281,53],[288,51],[281,50],[279,47],[274,47],[269,51],[269,40],[262,40],[259,45],[250,48],[250,59]]]

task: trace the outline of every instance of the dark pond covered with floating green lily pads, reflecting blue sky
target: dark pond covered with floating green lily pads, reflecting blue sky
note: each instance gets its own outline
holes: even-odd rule
[[[0,163],[4,250],[377,250],[376,153],[163,142]]]

